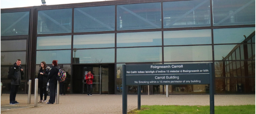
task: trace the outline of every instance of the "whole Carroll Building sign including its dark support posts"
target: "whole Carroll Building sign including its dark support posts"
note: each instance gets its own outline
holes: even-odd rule
[[[127,86],[138,86],[138,109],[141,85],[209,84],[210,114],[214,114],[214,75],[212,63],[122,65],[123,114],[127,114]]]

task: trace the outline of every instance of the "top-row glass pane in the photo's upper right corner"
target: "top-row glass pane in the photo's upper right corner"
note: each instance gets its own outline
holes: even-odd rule
[[[255,0],[213,0],[212,11],[214,26],[255,24]]]

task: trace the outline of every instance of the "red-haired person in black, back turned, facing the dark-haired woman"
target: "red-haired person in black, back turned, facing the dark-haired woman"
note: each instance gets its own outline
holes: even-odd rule
[[[49,89],[50,89],[50,99],[46,104],[55,103],[56,98],[56,90],[57,90],[57,76],[58,76],[58,60],[52,61],[52,68],[50,69],[49,75],[47,77],[47,81],[49,81]]]

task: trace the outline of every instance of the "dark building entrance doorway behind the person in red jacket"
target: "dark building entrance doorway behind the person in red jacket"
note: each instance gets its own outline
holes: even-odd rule
[[[91,71],[94,76],[92,94],[114,94],[114,67],[114,64],[73,65],[73,93],[87,94],[85,76]]]

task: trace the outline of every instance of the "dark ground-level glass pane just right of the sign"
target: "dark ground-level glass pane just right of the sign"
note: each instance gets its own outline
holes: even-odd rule
[[[255,78],[215,78],[216,94],[255,93]]]

